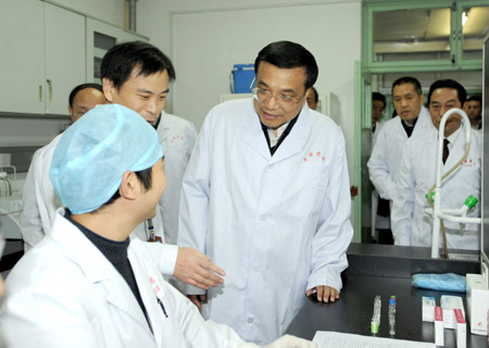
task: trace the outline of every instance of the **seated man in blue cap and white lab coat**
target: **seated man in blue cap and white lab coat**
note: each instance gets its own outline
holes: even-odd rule
[[[129,238],[156,213],[163,165],[154,128],[118,104],[63,134],[50,177],[66,209],[9,275],[9,347],[247,347],[163,279],[156,244]],[[276,345],[313,347],[291,336]]]

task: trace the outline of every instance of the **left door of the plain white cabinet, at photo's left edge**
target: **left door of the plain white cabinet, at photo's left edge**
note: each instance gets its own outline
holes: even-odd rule
[[[0,1],[0,111],[43,113],[43,2]]]

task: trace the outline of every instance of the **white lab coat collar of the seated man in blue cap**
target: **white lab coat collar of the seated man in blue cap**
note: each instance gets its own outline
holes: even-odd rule
[[[108,302],[126,312],[152,336],[148,321],[126,281],[103,253],[75,225],[64,217],[64,213],[63,208],[57,211],[51,234],[52,239],[66,250],[67,258],[78,264],[88,282],[105,288]],[[131,252],[130,250],[129,245],[128,252]],[[140,273],[138,272],[138,264],[131,258],[129,258],[129,261],[136,276],[136,274]],[[133,265],[133,262],[136,263],[136,268]],[[141,283],[138,277],[136,277],[136,282],[142,297],[142,293],[145,293],[142,289],[146,287],[139,285]],[[145,298],[143,302],[146,302]]]

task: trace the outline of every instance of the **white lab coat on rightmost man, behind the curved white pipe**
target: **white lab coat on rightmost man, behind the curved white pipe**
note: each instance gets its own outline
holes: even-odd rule
[[[436,159],[438,149],[438,129],[431,129],[406,144],[398,177],[398,199],[391,211],[392,233],[396,245],[430,247],[432,217],[425,213],[429,208],[426,194],[436,181]],[[465,151],[465,137],[459,132],[442,174],[448,172]],[[473,195],[480,202],[480,147],[479,138],[472,132],[471,150],[462,167],[447,177],[441,184],[441,208],[462,208],[465,199]],[[468,216],[480,216],[480,203]],[[444,221],[450,249],[479,249],[480,231],[476,224]],[[440,246],[442,238],[440,235]]]

